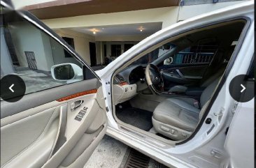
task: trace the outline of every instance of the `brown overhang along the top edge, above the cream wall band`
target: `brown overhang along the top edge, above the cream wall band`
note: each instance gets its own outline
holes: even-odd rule
[[[39,19],[178,6],[180,0],[57,0],[26,6]]]

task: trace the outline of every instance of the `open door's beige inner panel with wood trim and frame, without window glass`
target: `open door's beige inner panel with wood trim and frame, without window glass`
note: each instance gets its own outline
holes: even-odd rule
[[[101,80],[72,47],[34,15],[13,10],[9,1],[1,1],[1,6],[55,39],[94,76],[28,93],[14,103],[1,100],[1,167],[84,167],[106,133]]]

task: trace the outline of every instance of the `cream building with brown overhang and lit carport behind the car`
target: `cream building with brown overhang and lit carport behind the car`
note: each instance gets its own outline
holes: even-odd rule
[[[36,15],[74,47],[90,66],[108,64],[152,33],[176,22],[241,2],[243,1],[13,0],[15,8],[23,8]],[[40,32],[34,32],[33,29],[28,31],[29,27],[23,28],[10,32],[12,45],[18,53],[15,66],[29,67],[26,51],[34,52],[35,61],[40,62],[36,64],[37,70],[43,72],[50,72],[51,66],[57,63],[76,63],[76,60],[63,53],[63,49],[55,47],[54,41],[38,35]],[[33,39],[37,34],[36,38],[40,38],[37,41],[42,45],[34,44],[33,40],[24,41],[20,34],[26,34],[27,39]],[[22,43],[19,43],[21,40]],[[5,62],[1,66],[8,66],[11,62],[15,64],[11,59]]]

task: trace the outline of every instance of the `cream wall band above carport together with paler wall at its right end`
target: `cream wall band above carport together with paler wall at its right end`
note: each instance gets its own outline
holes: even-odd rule
[[[252,0],[250,0],[252,1]],[[152,8],[145,10],[132,10],[120,13],[102,13],[96,15],[82,15],[76,17],[63,17],[43,20],[52,29],[71,27],[115,26],[120,24],[139,24],[162,22],[162,28],[176,23],[178,20],[208,13],[219,8],[232,6],[244,1],[227,1],[220,3],[206,3],[191,6],[173,6],[165,8]],[[179,11],[180,10],[180,11]],[[113,19],[115,18],[115,19]]]

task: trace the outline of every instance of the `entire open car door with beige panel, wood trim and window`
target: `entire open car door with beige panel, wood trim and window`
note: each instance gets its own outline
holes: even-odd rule
[[[30,13],[1,1],[0,19],[1,168],[84,167],[106,132],[99,77]]]

